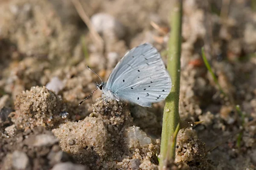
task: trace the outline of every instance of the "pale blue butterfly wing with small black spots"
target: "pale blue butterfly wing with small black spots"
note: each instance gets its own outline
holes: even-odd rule
[[[164,100],[171,88],[171,77],[163,60],[157,49],[149,43],[128,51],[106,84],[106,90],[111,91],[116,98],[144,107]]]

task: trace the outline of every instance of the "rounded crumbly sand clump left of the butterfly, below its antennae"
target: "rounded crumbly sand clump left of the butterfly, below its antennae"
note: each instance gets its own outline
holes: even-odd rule
[[[64,122],[61,105],[59,96],[45,87],[36,86],[17,96],[15,112],[10,116],[20,129],[33,129],[35,126],[52,128]]]

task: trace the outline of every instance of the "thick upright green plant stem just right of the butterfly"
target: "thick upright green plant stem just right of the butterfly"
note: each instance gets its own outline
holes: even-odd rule
[[[163,169],[166,159],[175,159],[177,125],[180,123],[179,96],[180,96],[180,52],[181,52],[181,23],[182,23],[182,0],[174,0],[171,9],[171,34],[168,43],[167,70],[172,78],[172,89],[166,98],[166,105],[163,111],[163,127],[160,148],[160,170]],[[170,140],[172,139],[172,140]],[[173,142],[170,151],[167,152],[169,143]],[[168,155],[167,155],[168,154]],[[168,160],[169,161],[169,160]]]

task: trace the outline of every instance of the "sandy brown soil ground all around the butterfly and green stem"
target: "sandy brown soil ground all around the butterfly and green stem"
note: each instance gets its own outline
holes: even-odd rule
[[[256,169],[253,2],[183,0],[180,118],[204,122],[180,130],[169,169]],[[81,6],[101,39],[72,1],[0,1],[1,170],[158,169],[164,102],[106,103],[97,90],[78,104],[100,82],[87,65],[106,81],[143,42],[166,61],[172,2]],[[204,65],[203,46],[219,86]]]

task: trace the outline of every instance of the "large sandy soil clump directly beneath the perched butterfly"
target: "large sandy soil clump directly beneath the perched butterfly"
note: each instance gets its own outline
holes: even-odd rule
[[[156,162],[159,140],[151,141],[145,132],[132,125],[125,104],[99,100],[89,117],[68,122],[52,132],[60,139],[62,150],[92,169],[127,169],[135,166],[131,163],[134,159]]]

